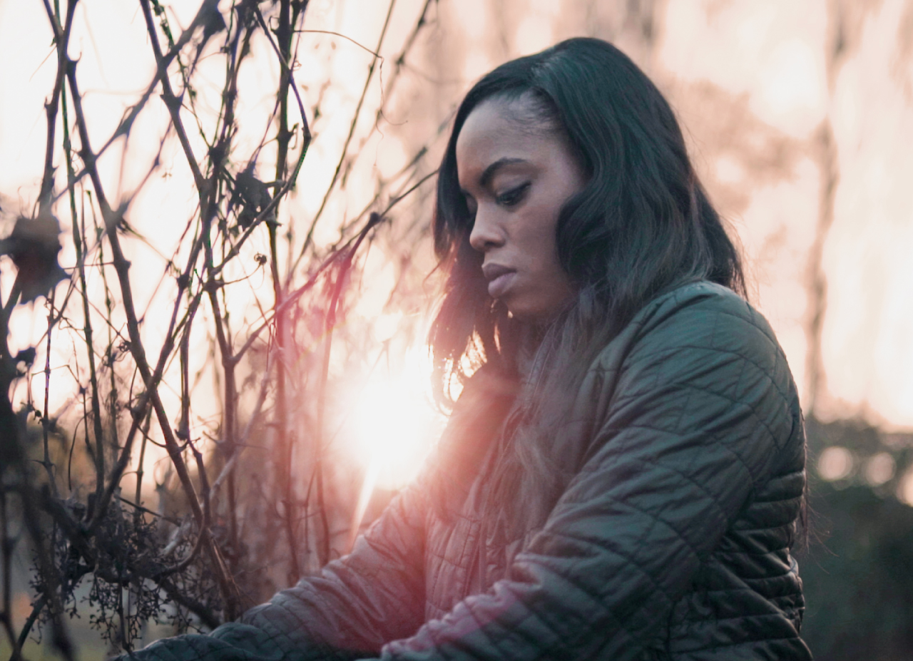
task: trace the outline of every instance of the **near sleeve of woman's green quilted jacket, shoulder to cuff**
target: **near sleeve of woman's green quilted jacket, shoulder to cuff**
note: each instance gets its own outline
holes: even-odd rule
[[[601,375],[614,387],[593,400],[592,452],[507,578],[381,658],[624,661],[663,645],[699,563],[782,446],[802,443],[792,377],[760,315],[719,294],[666,308]]]

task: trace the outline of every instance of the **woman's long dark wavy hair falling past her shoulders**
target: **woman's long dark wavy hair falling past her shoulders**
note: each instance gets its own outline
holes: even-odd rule
[[[611,44],[568,39],[494,69],[456,112],[438,174],[434,219],[446,288],[429,336],[436,387],[445,401],[454,381],[465,382],[480,365],[489,372],[516,372],[521,330],[488,296],[482,255],[469,246],[473,217],[460,192],[456,139],[483,101],[520,98],[533,101],[544,130],[563,135],[587,175],[557,224],[561,266],[576,299],[545,331],[537,361],[546,368],[528,390],[574,392],[595,354],[667,289],[708,279],[745,296],[739,252],[698,182],[663,95]],[[529,401],[530,426],[541,429],[544,418],[554,424],[554,412],[542,409],[541,398]],[[525,452],[525,472],[553,474],[546,450],[531,443],[517,453],[522,458]]]

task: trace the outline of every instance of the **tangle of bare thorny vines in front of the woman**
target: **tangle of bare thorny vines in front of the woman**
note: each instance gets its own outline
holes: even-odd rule
[[[234,619],[262,596],[264,572],[277,562],[286,565],[285,580],[296,582],[308,567],[330,559],[334,531],[324,427],[332,339],[349,305],[346,293],[363,247],[393,206],[434,174],[425,166],[423,147],[400,173],[378,182],[362,214],[338,223],[335,245],[319,247],[314,240],[331,195],[344,188],[358,158],[351,144],[370,106],[368,92],[377,84],[395,0],[376,47],[366,48],[371,59],[348,137],[299,244],[293,223],[280,234],[280,218],[309,154],[309,117],[320,114],[320,100],[309,108],[296,81],[299,49],[311,33],[332,34],[307,29],[307,0],[233,0],[221,7],[218,0],[203,0],[180,31],[159,0],[138,0],[154,74],[116,129],[96,144],[79,85],[79,60],[70,54],[79,0],[42,3],[57,73],[45,106],[40,192],[37,208],[21,214],[0,242],[0,254],[16,268],[15,283],[0,301],[0,624],[13,661],[22,658],[37,624],[47,624],[58,653],[72,659],[65,619],[86,605],[90,622],[111,645],[130,650],[152,620],[183,630]],[[381,105],[369,118],[372,132],[416,37],[431,20],[431,8],[427,0],[394,60]],[[268,131],[251,152],[238,141],[238,109],[242,70],[252,66],[257,47],[274,58],[278,88]],[[206,58],[224,65],[214,117],[200,110],[201,86],[211,84],[200,74]],[[207,64],[211,76],[214,68]],[[132,194],[115,200],[100,159],[121,143],[126,153],[134,126],[159,102],[169,121],[154,162]],[[173,140],[192,177],[196,208],[156,285],[156,291],[173,290],[161,340],[152,341],[144,332],[151,314],[142,308],[145,295],[135,293],[136,278],[145,274],[131,263],[134,245],[150,242],[133,228],[131,215]],[[267,153],[275,155],[269,177],[257,162]],[[58,177],[61,160],[64,185]],[[381,209],[383,200],[388,204]],[[75,263],[66,270],[58,264],[58,215],[71,226]],[[242,262],[250,258],[258,233],[268,236],[269,254],[254,256],[254,273],[269,278],[272,300],[256,324],[238,328],[228,291],[250,278]],[[283,240],[288,257],[281,254]],[[57,287],[61,282],[65,288]],[[26,404],[16,410],[12,393],[30,378],[37,351],[11,353],[9,320],[16,306],[41,297],[47,300],[39,372],[44,392],[33,401],[26,386]],[[200,374],[192,344],[201,324],[211,339],[221,405],[217,424],[209,427],[194,423]],[[69,417],[50,410],[58,383],[51,356],[65,331],[81,344],[79,349],[74,343],[79,357],[68,367],[78,387],[65,407],[79,413]],[[172,385],[169,374],[177,374],[172,378],[179,385]],[[253,452],[252,439],[265,435],[270,460],[243,470],[241,457]],[[159,506],[152,509],[144,505],[145,459],[156,446],[168,463],[163,476],[153,476]],[[292,472],[301,456],[308,457],[310,470],[303,494]],[[35,599],[17,625],[11,574],[17,549],[24,546],[34,558]],[[80,593],[80,584],[88,592]]]

